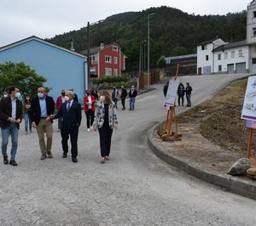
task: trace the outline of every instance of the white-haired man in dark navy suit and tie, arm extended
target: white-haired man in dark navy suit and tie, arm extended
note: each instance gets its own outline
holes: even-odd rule
[[[63,119],[61,121],[62,157],[67,158],[67,140],[70,136],[72,161],[78,162],[78,136],[79,126],[82,120],[81,105],[74,101],[73,91],[68,91],[66,96],[68,97],[68,101],[62,104],[58,114],[52,115],[51,118],[56,119],[62,117]]]

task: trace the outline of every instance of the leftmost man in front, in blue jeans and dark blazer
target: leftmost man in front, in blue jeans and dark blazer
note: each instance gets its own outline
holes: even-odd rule
[[[3,163],[12,166],[18,166],[15,161],[15,155],[18,148],[18,132],[20,122],[22,119],[22,102],[20,101],[19,88],[12,87],[9,89],[9,97],[1,99],[0,101],[0,127],[2,132],[2,154]],[[7,155],[7,145],[9,142],[9,135],[11,135],[12,149],[10,161]]]

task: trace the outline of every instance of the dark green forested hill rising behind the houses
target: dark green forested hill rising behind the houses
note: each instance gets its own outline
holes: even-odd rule
[[[152,14],[155,13],[155,14]],[[161,55],[171,56],[178,51],[177,46],[185,48],[186,54],[196,52],[200,42],[216,37],[226,42],[246,39],[247,12],[226,15],[195,15],[162,6],[148,8],[141,12],[114,14],[101,22],[90,25],[90,47],[99,46],[99,42],[117,42],[128,57],[128,69],[136,67],[139,59],[139,43],[148,38],[148,14],[150,16],[150,60],[156,65]],[[70,31],[47,39],[61,47],[70,48],[74,41],[76,51],[87,48],[87,22],[79,31]]]

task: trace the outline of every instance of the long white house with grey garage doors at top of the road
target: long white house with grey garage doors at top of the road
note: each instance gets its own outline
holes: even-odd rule
[[[246,73],[249,71],[249,47],[247,40],[232,42],[214,48],[213,73]]]

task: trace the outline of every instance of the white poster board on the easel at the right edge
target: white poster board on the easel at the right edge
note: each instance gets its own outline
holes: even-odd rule
[[[256,76],[248,77],[247,91],[241,110],[241,118],[256,121]]]

